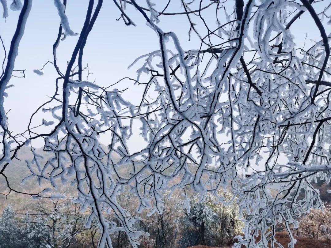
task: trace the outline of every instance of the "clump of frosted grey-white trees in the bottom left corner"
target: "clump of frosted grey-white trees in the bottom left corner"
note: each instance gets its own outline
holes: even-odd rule
[[[88,215],[70,199],[37,200],[0,217],[0,247],[77,248],[97,246],[97,223],[85,227]]]

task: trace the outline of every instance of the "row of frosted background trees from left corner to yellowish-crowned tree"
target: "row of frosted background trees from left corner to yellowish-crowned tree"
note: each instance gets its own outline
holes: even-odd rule
[[[224,193],[226,200],[231,195]],[[225,207],[212,196],[202,204],[198,198],[190,201],[190,212],[182,209],[179,197],[164,197],[163,213],[136,213],[138,203],[133,195],[120,195],[118,201],[142,221],[138,224],[150,236],[140,238],[140,247],[165,248],[194,245],[224,246],[233,244],[233,237],[241,232],[239,209],[235,203]],[[23,207],[7,206],[0,217],[0,248],[95,248],[98,225],[85,223],[88,212],[81,213],[79,205],[70,199],[39,199]],[[120,223],[114,216],[110,222]],[[131,247],[122,231],[111,234],[114,248]]]

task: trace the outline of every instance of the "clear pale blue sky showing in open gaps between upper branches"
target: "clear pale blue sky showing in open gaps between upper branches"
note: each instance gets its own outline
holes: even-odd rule
[[[8,5],[10,2],[11,0],[8,0]],[[162,10],[168,1],[155,2],[158,2],[156,8]],[[137,3],[146,6],[144,0],[137,0]],[[202,2],[202,6],[209,3],[210,1],[205,0]],[[228,13],[233,11],[233,3],[233,0],[225,3]],[[88,0],[68,0],[66,14],[71,29],[76,33],[79,33],[82,28],[87,6]],[[318,9],[319,5],[316,7]],[[169,5],[167,12],[172,11],[184,11],[179,0],[172,1]],[[114,2],[104,1],[84,49],[83,66],[88,63],[89,71],[93,73],[89,76],[89,81],[95,80],[100,86],[107,86],[123,77],[135,78],[138,67],[134,66],[128,70],[128,65],[137,57],[159,49],[158,36],[146,25],[141,14],[130,5],[127,5],[127,14],[136,23],[136,26],[126,26],[122,20],[117,21],[120,14]],[[19,12],[9,10],[9,17],[0,19],[0,35],[7,49],[15,31],[18,15]],[[202,12],[202,15],[207,21],[215,23],[214,16],[210,15],[208,11]],[[225,22],[225,15],[220,19]],[[30,115],[39,105],[48,100],[47,96],[53,95],[57,74],[52,65],[49,64],[45,67],[43,76],[33,73],[32,70],[40,69],[48,60],[52,60],[52,45],[58,33],[59,23],[60,17],[53,0],[33,0],[15,63],[15,69],[26,69],[25,78],[12,77],[9,84],[14,84],[15,87],[6,90],[8,97],[5,99],[5,109],[11,109],[9,126],[14,133],[25,131]],[[184,50],[196,49],[200,44],[193,33],[191,40],[188,40],[189,23],[185,15],[161,16],[159,26],[165,32],[175,32]],[[326,27],[328,28],[327,34],[329,34],[330,25],[326,25]],[[198,26],[197,28],[203,27]],[[306,35],[313,40],[320,40],[318,29],[308,13],[303,14],[301,19],[292,25],[291,32],[296,37],[295,42],[298,46],[303,46]],[[63,71],[67,61],[71,58],[77,39],[78,36],[67,37],[58,48],[58,63]],[[306,40],[306,46],[311,42]],[[2,57],[3,51],[0,51],[0,58]],[[133,103],[138,103],[142,87],[133,86],[129,81],[123,81],[118,86],[120,89],[126,87],[130,87],[130,90],[126,91],[123,97]],[[38,117],[37,119],[41,120]]]

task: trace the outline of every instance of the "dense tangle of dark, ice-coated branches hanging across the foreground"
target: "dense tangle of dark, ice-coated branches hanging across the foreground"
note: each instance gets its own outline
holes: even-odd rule
[[[134,247],[146,234],[135,229],[138,218],[118,204],[124,190],[135,193],[137,211],[161,214],[165,192],[182,193],[183,207],[189,208],[190,191],[200,194],[201,201],[213,194],[229,204],[218,194],[221,189],[234,194],[232,201],[239,204],[246,223],[235,247],[282,247],[275,238],[280,223],[290,235],[289,247],[294,247],[290,227],[297,227],[297,218],[311,208],[322,208],[311,182],[330,181],[331,34],[323,20],[330,18],[331,5],[325,1],[323,12],[316,13],[313,0],[236,0],[229,14],[217,0],[181,0],[182,9],[173,13],[167,12],[171,0],[166,6],[150,0],[113,2],[125,25],[135,25],[130,17],[134,11],[142,15],[158,36],[160,49],[134,61],[131,66],[141,64],[135,79],[126,77],[107,88],[84,81],[83,50],[103,1],[89,1],[82,30],[75,34],[65,14],[67,1],[54,0],[61,24],[54,58],[47,63],[59,75],[56,89],[33,113],[26,132],[14,135],[3,102],[32,1],[24,0],[17,8],[21,14],[0,78],[0,174],[7,187],[15,191],[6,167],[21,147],[29,146],[34,157],[27,161],[31,175],[24,180],[77,187],[76,201],[91,212],[87,224],[99,221],[99,247],[112,247],[109,234],[115,231],[126,232]],[[6,17],[6,1],[1,3]],[[313,20],[321,36],[309,49],[298,47],[291,34],[291,25],[303,21],[305,12],[304,21]],[[215,14],[214,26],[206,13]],[[188,36],[200,42],[196,49],[183,50],[176,34],[159,26],[161,17],[172,15],[187,18]],[[56,50],[63,36],[70,35],[79,37],[62,71]],[[42,69],[35,72],[43,74]],[[130,90],[122,87],[124,80],[143,87],[139,105],[122,97]],[[42,120],[49,132],[31,127],[40,111],[53,116],[52,121]],[[130,152],[128,141],[136,125],[145,143]],[[101,135],[109,137],[107,146],[101,144]],[[32,146],[36,139],[44,139],[43,150],[50,154],[44,164]],[[49,197],[46,191],[30,195]],[[107,213],[114,213],[120,226],[108,222]]]

